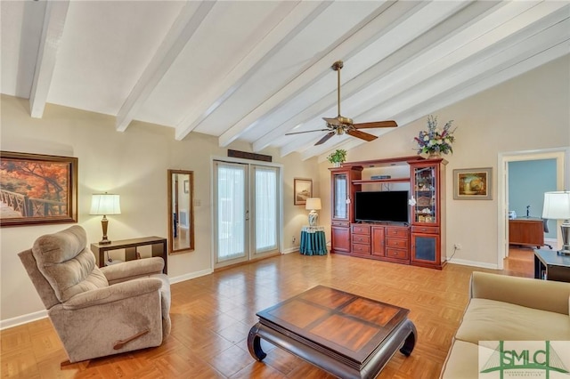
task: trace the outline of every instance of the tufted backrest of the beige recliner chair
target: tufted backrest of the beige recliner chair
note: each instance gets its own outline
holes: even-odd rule
[[[95,264],[85,230],[74,225],[66,230],[37,238],[32,247],[37,269],[53,288],[60,302],[103,286],[107,278]]]

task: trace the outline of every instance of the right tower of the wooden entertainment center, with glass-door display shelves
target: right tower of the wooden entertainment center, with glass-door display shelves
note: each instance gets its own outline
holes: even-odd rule
[[[411,206],[410,263],[440,270],[445,264],[446,164],[442,158],[410,164],[411,193],[416,202]]]

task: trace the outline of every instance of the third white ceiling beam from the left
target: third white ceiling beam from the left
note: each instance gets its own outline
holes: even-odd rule
[[[200,101],[191,107],[183,121],[176,126],[176,140],[182,140],[191,133],[206,117],[222,105],[232,93],[247,82],[275,52],[279,52],[285,44],[288,44],[311,21],[324,12],[330,4],[332,3],[297,2],[295,7],[289,12],[286,10],[289,10],[290,3],[284,2],[281,4],[280,8],[283,12],[287,12],[287,15],[259,44],[256,44],[248,52],[248,55],[243,60],[240,60],[226,77],[215,85],[211,85],[207,92],[200,96]],[[227,135],[227,133],[224,134]]]

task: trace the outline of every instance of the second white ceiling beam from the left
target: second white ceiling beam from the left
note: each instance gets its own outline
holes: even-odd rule
[[[168,30],[162,43],[159,45],[151,61],[137,80],[133,90],[126,97],[121,109],[118,111],[116,129],[124,132],[133,121],[138,110],[144,104],[152,91],[159,85],[176,58],[183,51],[184,46],[194,36],[202,21],[208,16],[208,12],[216,4],[216,1],[187,2],[178,14],[174,24]]]

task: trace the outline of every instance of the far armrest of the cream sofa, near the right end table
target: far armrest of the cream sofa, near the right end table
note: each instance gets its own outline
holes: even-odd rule
[[[570,283],[475,271],[469,295],[567,315]]]

